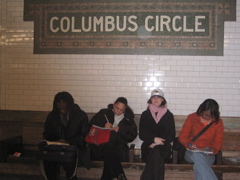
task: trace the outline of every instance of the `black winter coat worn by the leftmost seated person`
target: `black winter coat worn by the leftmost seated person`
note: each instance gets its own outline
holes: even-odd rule
[[[67,127],[64,127],[60,120],[58,110],[51,111],[44,125],[43,137],[48,141],[65,139],[71,145],[79,149],[85,149],[85,137],[89,132],[87,114],[77,104],[70,109]]]

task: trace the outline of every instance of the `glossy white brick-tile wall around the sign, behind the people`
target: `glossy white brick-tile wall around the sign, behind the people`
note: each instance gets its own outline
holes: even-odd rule
[[[83,110],[97,112],[125,96],[135,113],[160,87],[176,115],[216,99],[221,115],[240,116],[240,6],[225,22],[224,56],[33,54],[33,22],[23,0],[0,1],[0,109],[51,110],[54,95],[69,91]]]

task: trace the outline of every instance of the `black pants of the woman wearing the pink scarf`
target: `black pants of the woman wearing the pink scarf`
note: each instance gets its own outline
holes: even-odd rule
[[[170,145],[158,145],[149,148],[146,165],[141,180],[164,180],[164,163],[171,155]]]

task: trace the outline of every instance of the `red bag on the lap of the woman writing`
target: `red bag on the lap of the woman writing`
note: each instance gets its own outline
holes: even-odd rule
[[[86,136],[85,140],[89,144],[100,145],[102,143],[107,143],[110,138],[110,129],[109,128],[102,128],[93,125],[90,128],[88,135]]]

